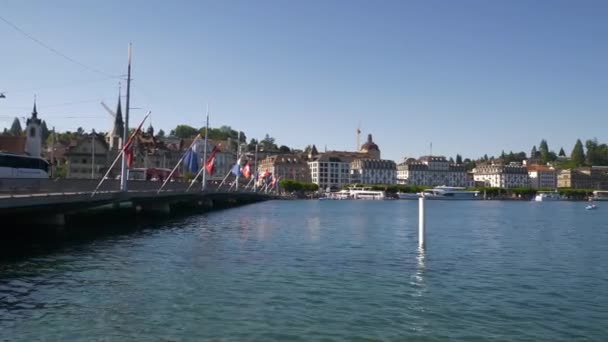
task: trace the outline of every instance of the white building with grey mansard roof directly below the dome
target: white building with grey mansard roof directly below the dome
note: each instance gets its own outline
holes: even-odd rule
[[[351,184],[395,184],[397,165],[392,160],[355,159],[350,163]]]

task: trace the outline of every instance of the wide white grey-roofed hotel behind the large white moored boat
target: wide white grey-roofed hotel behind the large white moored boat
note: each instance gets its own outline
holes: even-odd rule
[[[472,186],[464,165],[450,163],[444,156],[423,156],[397,165],[397,184],[418,186]]]

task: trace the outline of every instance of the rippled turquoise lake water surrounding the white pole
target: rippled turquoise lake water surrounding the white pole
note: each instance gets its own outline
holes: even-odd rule
[[[608,336],[608,204],[273,201],[0,261],[7,340]]]

